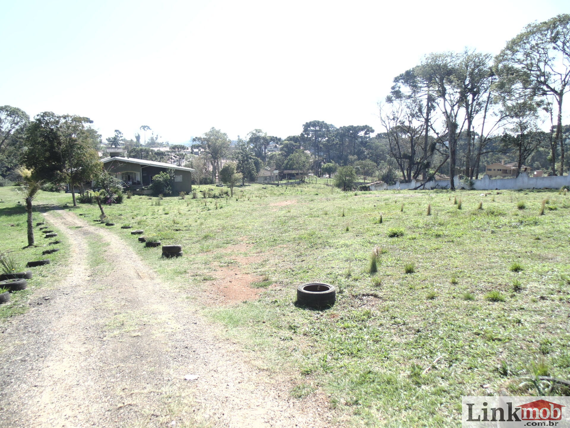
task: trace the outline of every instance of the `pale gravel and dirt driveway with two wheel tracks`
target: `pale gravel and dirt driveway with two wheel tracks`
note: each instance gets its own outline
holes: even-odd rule
[[[0,324],[0,426],[333,426],[321,394],[291,398],[289,378],[214,337],[123,241],[46,217],[70,237],[71,272]]]

